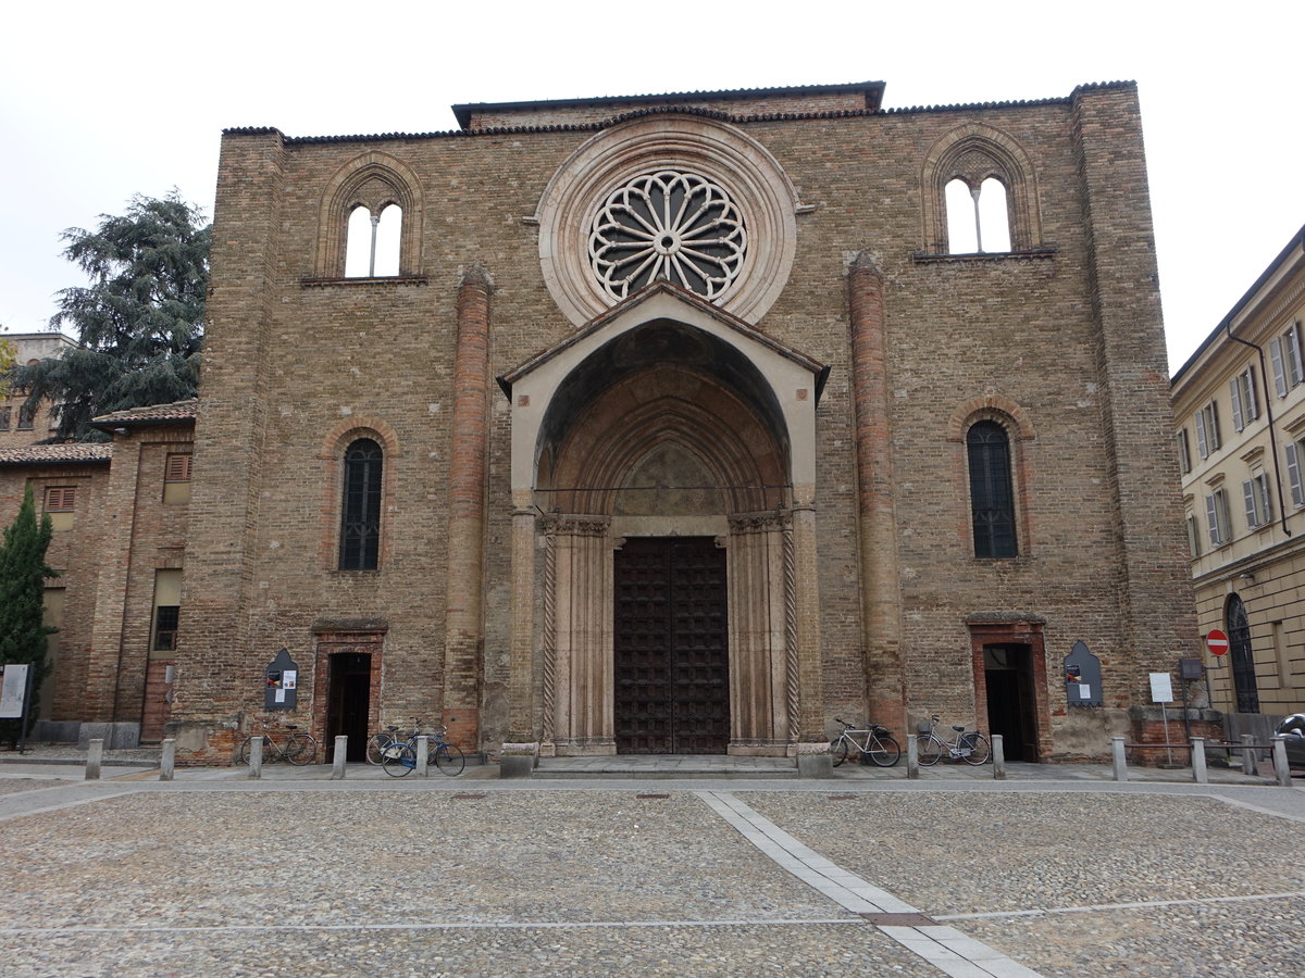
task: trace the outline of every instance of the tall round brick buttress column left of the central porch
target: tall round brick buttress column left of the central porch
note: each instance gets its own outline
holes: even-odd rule
[[[485,270],[471,266],[458,287],[449,450],[449,567],[445,588],[444,715],[449,739],[479,750],[480,666],[484,651],[485,476],[489,447],[489,292]]]

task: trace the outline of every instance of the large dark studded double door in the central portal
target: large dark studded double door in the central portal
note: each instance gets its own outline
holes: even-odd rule
[[[615,575],[617,754],[724,754],[726,552],[713,537],[636,537]]]

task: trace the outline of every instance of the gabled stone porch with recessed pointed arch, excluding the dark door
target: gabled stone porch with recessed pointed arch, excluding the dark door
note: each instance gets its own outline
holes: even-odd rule
[[[822,739],[817,361],[667,283],[500,378],[512,399],[510,739],[612,754],[613,552],[727,552],[731,754]]]

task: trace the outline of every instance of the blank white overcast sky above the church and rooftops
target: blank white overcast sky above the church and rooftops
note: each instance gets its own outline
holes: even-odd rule
[[[1135,80],[1173,368],[1305,224],[1298,0],[885,7],[14,4],[0,326],[43,330],[54,293],[81,284],[64,228],[172,186],[211,215],[223,128],[438,132],[462,102],[883,81],[891,108]]]

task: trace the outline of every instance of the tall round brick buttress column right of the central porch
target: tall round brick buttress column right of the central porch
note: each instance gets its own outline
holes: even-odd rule
[[[861,253],[847,278],[852,327],[857,518],[861,548],[861,635],[870,719],[906,722],[900,593],[893,503],[893,430],[883,276]]]

